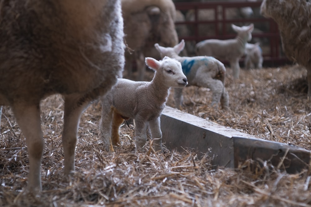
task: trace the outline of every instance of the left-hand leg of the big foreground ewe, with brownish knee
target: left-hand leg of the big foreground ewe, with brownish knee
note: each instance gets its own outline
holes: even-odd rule
[[[43,134],[40,123],[40,106],[26,106],[21,103],[12,106],[16,121],[26,137],[29,155],[29,175],[27,190],[37,193],[41,190],[40,164],[44,148]]]

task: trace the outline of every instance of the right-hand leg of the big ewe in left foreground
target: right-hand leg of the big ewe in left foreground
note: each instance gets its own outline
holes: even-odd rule
[[[64,148],[64,174],[67,177],[74,172],[75,149],[77,144],[77,132],[82,112],[89,105],[88,102],[80,102],[80,96],[64,96],[64,128],[63,128],[63,148]]]

